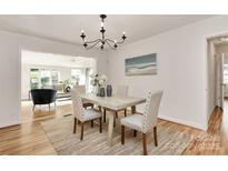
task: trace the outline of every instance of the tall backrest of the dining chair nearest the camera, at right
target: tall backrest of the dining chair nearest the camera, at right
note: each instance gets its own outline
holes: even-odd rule
[[[145,119],[143,119],[143,131],[145,133],[157,124],[158,111],[162,91],[149,92],[146,102]]]

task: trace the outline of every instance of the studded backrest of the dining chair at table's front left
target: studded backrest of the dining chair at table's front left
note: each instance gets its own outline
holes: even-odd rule
[[[70,93],[72,99],[73,115],[79,120],[83,119],[85,109],[79,92],[77,90],[71,89]]]

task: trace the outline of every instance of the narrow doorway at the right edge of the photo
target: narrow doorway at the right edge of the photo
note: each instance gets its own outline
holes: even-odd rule
[[[228,113],[228,36],[207,40],[208,121],[215,109]]]

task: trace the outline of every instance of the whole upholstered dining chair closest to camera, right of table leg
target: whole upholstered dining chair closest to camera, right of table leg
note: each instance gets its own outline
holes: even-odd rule
[[[155,93],[149,92],[146,101],[143,114],[135,113],[120,120],[121,122],[121,144],[125,144],[125,127],[142,132],[143,154],[147,154],[147,133],[153,129],[155,145],[158,145],[157,139],[157,118],[160,107],[162,91]],[[135,133],[136,135],[136,133]]]

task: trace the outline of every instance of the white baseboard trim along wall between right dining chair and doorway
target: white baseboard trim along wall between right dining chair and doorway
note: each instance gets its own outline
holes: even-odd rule
[[[175,122],[175,123],[192,127],[192,128],[204,130],[204,131],[207,131],[207,129],[208,129],[207,125],[201,125],[201,124],[198,124],[196,122],[189,122],[189,121],[186,121],[186,120],[181,120],[181,119],[177,119],[177,118],[172,118],[172,117],[168,117],[168,115],[160,114],[160,115],[158,115],[158,118],[162,119],[162,120],[171,121],[171,122]]]

